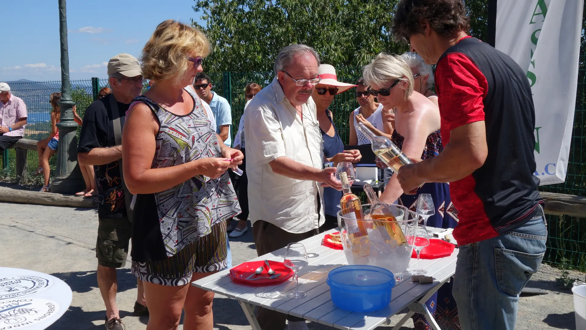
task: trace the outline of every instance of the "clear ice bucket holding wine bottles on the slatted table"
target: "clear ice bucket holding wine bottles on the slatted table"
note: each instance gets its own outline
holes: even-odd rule
[[[385,224],[386,221],[372,219],[370,206],[362,204],[364,220],[356,220],[351,216],[353,214],[345,216],[338,211],[340,238],[348,264],[377,266],[402,275],[409,266],[419,216],[404,206],[389,204],[397,222]],[[360,237],[350,235],[347,230],[350,227],[352,233],[356,225],[361,228]]]

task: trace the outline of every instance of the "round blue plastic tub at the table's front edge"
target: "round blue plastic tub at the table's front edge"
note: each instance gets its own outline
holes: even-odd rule
[[[328,274],[332,302],[352,312],[373,312],[391,302],[392,272],[368,265],[338,267]]]

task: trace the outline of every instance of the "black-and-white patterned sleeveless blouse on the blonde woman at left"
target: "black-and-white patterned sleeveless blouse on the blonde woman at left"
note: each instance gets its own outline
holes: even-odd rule
[[[146,103],[159,122],[151,169],[178,166],[203,157],[223,157],[216,131],[212,130],[199,97],[185,90],[192,96],[193,110],[183,116],[168,112],[147,96],[134,99]],[[153,201],[156,212],[149,205]],[[142,237],[133,238],[132,250],[137,241],[145,245],[138,250],[147,251],[133,253],[132,257],[136,261],[150,261],[161,260],[163,252],[171,257],[197,238],[210,234],[212,225],[239,214],[240,205],[226,172],[218,179],[200,174],[159,193],[139,194],[134,212],[134,226],[140,226],[142,233],[134,230],[133,234]],[[156,230],[162,241],[152,235]]]

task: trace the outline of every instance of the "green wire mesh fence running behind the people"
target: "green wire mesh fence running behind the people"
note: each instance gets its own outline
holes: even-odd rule
[[[584,54],[584,49],[581,49]],[[580,59],[578,75],[578,92],[576,97],[576,109],[570,149],[570,161],[568,162],[567,176],[564,183],[540,187],[541,191],[552,193],[574,194],[584,196],[586,192],[586,123],[585,117],[585,62],[586,55]],[[347,83],[356,83],[360,78],[361,70],[358,67],[339,68],[338,80]],[[274,77],[273,72],[224,72],[210,75],[212,89],[225,97],[232,110],[233,137],[238,130],[240,117],[244,111],[246,99],[244,89],[248,83],[258,83],[261,87],[267,86]],[[60,82],[10,82],[14,95],[21,97],[28,108],[28,124],[25,128],[25,138],[41,140],[50,132],[49,97],[53,92],[60,92]],[[71,82],[71,96],[77,103],[77,113],[83,118],[87,106],[96,99],[98,89],[107,86],[107,79],[74,80]],[[347,144],[349,139],[350,113],[359,105],[353,89],[335,96],[329,109],[333,113],[333,120],[342,141]],[[78,129],[78,136],[79,136]],[[8,150],[3,157],[4,173],[14,169],[14,150]],[[29,171],[36,169],[38,157],[36,153],[29,152]],[[54,157],[51,161],[54,166]],[[8,172],[7,172],[8,171]],[[13,176],[15,177],[15,176]],[[29,176],[30,177],[30,176]],[[581,224],[584,219],[567,216],[547,217],[549,225],[548,250],[545,261],[553,264],[570,265],[581,270],[586,270],[586,227]]]

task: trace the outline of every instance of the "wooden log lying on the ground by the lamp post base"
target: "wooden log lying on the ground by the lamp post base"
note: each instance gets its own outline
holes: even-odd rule
[[[62,194],[41,193],[40,191],[18,190],[8,187],[0,187],[0,201],[51,206],[98,207],[97,197],[83,198],[65,196]]]

